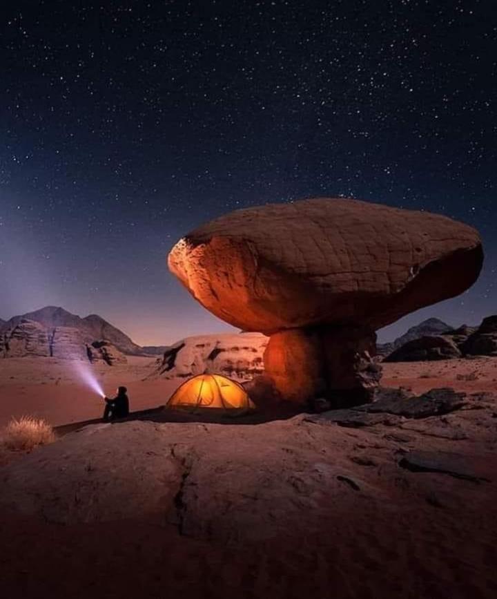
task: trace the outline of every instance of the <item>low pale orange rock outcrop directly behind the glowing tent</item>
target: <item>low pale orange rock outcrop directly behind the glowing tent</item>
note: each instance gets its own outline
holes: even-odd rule
[[[218,373],[237,381],[262,374],[262,355],[269,339],[260,333],[227,333],[186,337],[166,348],[155,374],[166,379]]]

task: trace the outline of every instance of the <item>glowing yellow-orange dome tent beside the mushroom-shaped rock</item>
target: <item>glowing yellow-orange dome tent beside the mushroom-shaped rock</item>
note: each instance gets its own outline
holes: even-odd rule
[[[198,374],[188,379],[171,395],[166,406],[192,411],[214,408],[233,416],[255,407],[241,385],[220,374]]]

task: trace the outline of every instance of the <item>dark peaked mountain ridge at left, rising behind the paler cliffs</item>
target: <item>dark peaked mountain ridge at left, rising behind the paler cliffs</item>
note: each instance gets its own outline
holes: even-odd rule
[[[77,329],[86,343],[105,339],[115,345],[123,354],[136,355],[144,353],[139,345],[133,343],[126,334],[105,321],[101,316],[90,314],[90,316],[80,318],[57,306],[46,306],[41,310],[35,310],[35,312],[13,316],[9,321],[2,321],[0,323],[0,334],[26,320],[40,323],[47,329],[55,327]]]

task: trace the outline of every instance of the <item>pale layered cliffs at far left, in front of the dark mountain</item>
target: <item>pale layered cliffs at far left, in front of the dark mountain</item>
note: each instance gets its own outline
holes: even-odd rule
[[[21,318],[16,324],[3,328],[0,333],[0,356],[100,360],[109,365],[126,363],[126,356],[108,341],[93,341],[88,345],[86,336],[75,327],[47,327],[28,318]]]

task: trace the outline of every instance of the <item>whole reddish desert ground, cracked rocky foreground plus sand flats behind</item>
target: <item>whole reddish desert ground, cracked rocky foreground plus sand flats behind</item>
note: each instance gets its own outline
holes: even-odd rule
[[[100,414],[66,364],[0,368],[3,421]],[[135,359],[99,375],[106,390],[126,384],[137,410],[177,384],[151,370]],[[0,469],[0,594],[494,598],[496,378],[491,358],[384,364],[384,386],[451,386],[469,399],[359,428],[309,415],[98,424],[16,455]],[[418,452],[434,466],[402,466]]]

